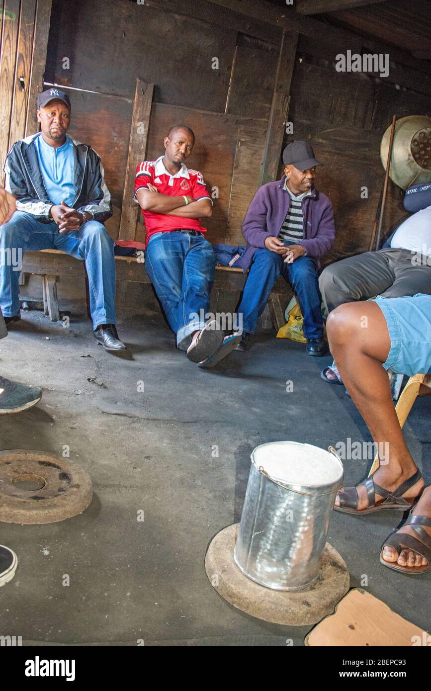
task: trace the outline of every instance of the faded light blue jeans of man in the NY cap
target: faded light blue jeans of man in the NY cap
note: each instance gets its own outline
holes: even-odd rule
[[[59,233],[57,225],[39,223],[32,214],[15,211],[8,223],[0,226],[0,306],[4,316],[19,313],[19,270],[8,257],[38,249],[61,249],[84,259],[90,287],[93,327],[115,324],[114,243],[102,223],[87,221],[78,231]]]

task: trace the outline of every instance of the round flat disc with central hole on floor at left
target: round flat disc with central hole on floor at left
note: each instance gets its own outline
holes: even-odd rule
[[[0,521],[55,523],[84,511],[90,476],[75,463],[41,451],[0,451]]]

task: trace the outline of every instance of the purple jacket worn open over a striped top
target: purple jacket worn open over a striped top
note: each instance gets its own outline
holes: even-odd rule
[[[244,272],[251,264],[258,247],[265,247],[269,236],[277,237],[290,206],[290,195],[285,189],[286,176],[276,182],[262,185],[251,200],[249,210],[242,223],[242,235],[247,240],[247,249],[236,263]],[[312,187],[312,196],[302,202],[304,216],[304,239],[298,241],[307,250],[307,256],[317,261],[334,245],[335,226],[332,204],[325,194]],[[318,261],[319,263],[319,261]]]

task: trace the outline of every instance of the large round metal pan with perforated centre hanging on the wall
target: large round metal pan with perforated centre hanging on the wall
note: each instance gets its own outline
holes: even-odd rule
[[[390,130],[388,127],[380,145],[383,168],[386,170]],[[396,121],[390,179],[401,189],[411,184],[431,182],[431,118],[408,115]]]

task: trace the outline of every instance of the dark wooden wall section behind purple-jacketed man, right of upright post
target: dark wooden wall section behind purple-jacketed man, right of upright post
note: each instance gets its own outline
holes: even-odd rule
[[[336,72],[317,41],[300,37],[297,57],[289,109],[294,132],[284,144],[310,140],[323,163],[316,186],[332,200],[337,229],[334,249],[325,257],[329,263],[368,249],[384,176],[382,135],[392,115],[430,112],[431,100],[369,75]],[[361,198],[362,187],[367,199]],[[390,181],[383,231],[390,234],[407,216],[401,191]]]

